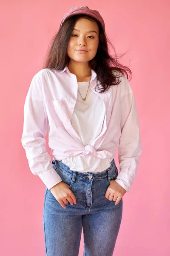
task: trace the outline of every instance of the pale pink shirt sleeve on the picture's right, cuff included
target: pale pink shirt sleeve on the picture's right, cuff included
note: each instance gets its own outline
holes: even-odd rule
[[[121,102],[121,136],[119,139],[119,174],[115,181],[127,192],[135,179],[139,157],[142,154],[139,119],[129,81],[123,78]]]

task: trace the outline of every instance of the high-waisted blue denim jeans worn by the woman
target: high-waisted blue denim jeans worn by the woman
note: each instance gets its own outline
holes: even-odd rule
[[[64,209],[49,189],[45,189],[43,229],[46,256],[78,256],[83,228],[83,256],[112,256],[122,220],[119,204],[105,198],[110,180],[118,171],[114,159],[103,172],[72,171],[62,161],[53,160],[53,168],[70,186],[77,204]]]

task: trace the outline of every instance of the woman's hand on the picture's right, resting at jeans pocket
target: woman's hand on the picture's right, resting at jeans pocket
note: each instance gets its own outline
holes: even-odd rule
[[[107,198],[110,201],[116,201],[115,204],[119,204],[122,197],[125,195],[127,191],[122,188],[115,180],[111,180],[110,186],[108,186],[108,189],[105,193],[105,198]],[[114,196],[111,198],[109,195]]]

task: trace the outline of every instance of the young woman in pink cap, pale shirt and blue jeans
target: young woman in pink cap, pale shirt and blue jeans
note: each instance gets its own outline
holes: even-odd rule
[[[142,154],[131,71],[109,54],[104,20],[88,6],[65,14],[53,39],[26,96],[22,135],[46,186],[45,253],[78,256],[83,228],[84,256],[112,256]]]

